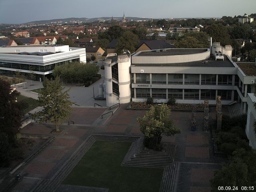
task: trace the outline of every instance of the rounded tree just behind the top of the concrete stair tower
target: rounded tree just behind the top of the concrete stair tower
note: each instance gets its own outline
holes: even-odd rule
[[[120,54],[123,52],[123,50],[129,50],[131,53],[133,53],[135,52],[138,43],[138,36],[130,31],[126,31],[120,38],[118,38],[116,52]]]

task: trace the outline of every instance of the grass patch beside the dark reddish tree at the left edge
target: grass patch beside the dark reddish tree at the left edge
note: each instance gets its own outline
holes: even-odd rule
[[[22,103],[22,113],[26,114],[39,106],[39,101],[30,97],[19,95],[17,97],[18,102]]]

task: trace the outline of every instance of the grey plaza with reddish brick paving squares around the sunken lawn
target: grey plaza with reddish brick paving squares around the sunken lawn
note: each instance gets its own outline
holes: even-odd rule
[[[106,108],[75,108],[70,117],[75,124],[60,126],[63,130],[60,134],[52,132],[52,124],[31,123],[24,127],[22,134],[48,135],[54,137],[54,140],[18,169],[17,172],[20,172],[23,178],[11,191],[37,191],[35,187],[38,183],[44,180],[50,182],[71,157],[75,159],[76,150],[92,134],[142,136],[136,118],[143,116],[146,110],[127,110],[126,107],[127,104],[121,105],[113,116],[106,117],[103,124],[97,122],[101,119],[101,114],[106,112]],[[223,160],[213,154],[211,134],[202,131],[203,117],[203,112],[196,112],[197,132],[190,132],[191,112],[172,111],[171,118],[175,125],[181,128],[181,134],[162,138],[163,142],[176,144],[174,162],[179,164],[177,192],[210,191],[210,179],[213,178],[214,171],[221,167]],[[210,110],[210,117],[215,117],[214,109]],[[65,173],[66,176],[67,174]],[[87,191],[90,190],[97,191],[90,188]],[[98,191],[100,190],[102,189]]]

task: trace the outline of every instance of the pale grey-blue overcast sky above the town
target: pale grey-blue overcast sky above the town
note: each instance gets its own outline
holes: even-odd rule
[[[0,0],[0,23],[70,17],[196,18],[256,13],[256,0]]]

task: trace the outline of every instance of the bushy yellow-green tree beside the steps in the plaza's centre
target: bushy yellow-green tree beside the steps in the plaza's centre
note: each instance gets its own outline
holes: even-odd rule
[[[166,104],[153,105],[143,117],[138,117],[140,131],[145,135],[144,145],[159,149],[162,135],[173,136],[180,128],[170,119],[171,110]]]

